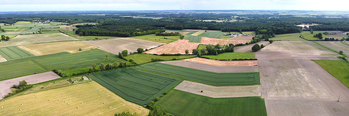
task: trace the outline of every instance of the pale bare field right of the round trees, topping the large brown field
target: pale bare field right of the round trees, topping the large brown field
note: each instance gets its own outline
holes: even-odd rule
[[[270,52],[322,52],[328,49],[311,41],[275,41],[260,51]]]

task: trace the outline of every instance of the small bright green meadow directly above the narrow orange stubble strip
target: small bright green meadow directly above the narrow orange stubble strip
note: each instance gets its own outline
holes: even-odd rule
[[[210,59],[228,60],[228,59],[254,59],[253,52],[226,52],[218,55],[204,55]]]

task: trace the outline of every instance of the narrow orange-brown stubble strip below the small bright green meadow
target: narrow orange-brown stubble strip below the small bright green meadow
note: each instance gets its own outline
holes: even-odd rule
[[[218,67],[231,67],[231,66],[254,66],[258,65],[257,60],[242,60],[242,61],[220,61],[205,59],[201,57],[195,57],[192,59],[184,59],[183,61],[195,62],[200,64],[214,65]]]

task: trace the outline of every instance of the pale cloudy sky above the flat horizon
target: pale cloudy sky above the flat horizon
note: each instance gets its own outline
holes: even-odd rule
[[[1,0],[0,11],[343,10],[349,0]]]

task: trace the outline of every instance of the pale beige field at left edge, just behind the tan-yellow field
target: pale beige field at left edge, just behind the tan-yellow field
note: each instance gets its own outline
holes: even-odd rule
[[[63,33],[47,33],[47,34],[25,34],[18,35],[9,41],[1,41],[0,46],[17,46],[17,45],[27,45],[36,44],[43,42],[54,42],[54,41],[72,41],[79,40],[70,36],[66,36]]]

